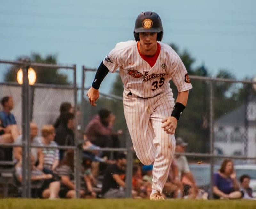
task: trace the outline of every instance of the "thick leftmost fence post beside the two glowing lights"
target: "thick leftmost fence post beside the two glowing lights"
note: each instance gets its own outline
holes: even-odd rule
[[[24,63],[22,85],[22,197],[29,198],[30,192],[30,124],[28,63]]]

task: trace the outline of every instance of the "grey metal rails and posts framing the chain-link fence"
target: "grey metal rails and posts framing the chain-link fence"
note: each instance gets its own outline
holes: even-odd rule
[[[58,146],[58,147],[52,147],[52,146],[32,146],[30,145],[30,140],[29,140],[29,122],[31,119],[31,112],[29,110],[29,107],[31,105],[31,96],[29,94],[29,91],[31,89],[31,86],[28,85],[28,79],[27,78],[27,74],[28,74],[28,68],[30,66],[40,66],[40,67],[50,67],[50,68],[55,68],[55,69],[59,69],[59,68],[63,68],[63,69],[69,69],[73,71],[73,83],[71,85],[55,85],[55,84],[35,84],[33,86],[33,88],[37,88],[37,89],[68,89],[68,90],[72,90],[73,92],[73,101],[74,101],[74,109],[75,111],[77,110],[77,94],[78,92],[80,93],[81,91],[81,105],[80,105],[80,110],[82,112],[82,123],[85,121],[85,119],[83,118],[84,115],[88,114],[88,110],[85,109],[85,102],[86,102],[86,98],[85,98],[85,90],[88,90],[89,87],[85,86],[85,78],[86,78],[86,72],[87,71],[96,71],[96,69],[86,69],[85,66],[82,67],[82,87],[78,88],[76,85],[76,65],[72,65],[72,66],[62,66],[62,65],[49,65],[49,64],[41,64],[41,63],[30,63],[30,62],[23,62],[23,61],[19,61],[19,62],[12,62],[12,61],[4,61],[4,60],[0,60],[0,64],[10,64],[10,65],[15,65],[15,66],[19,66],[23,68],[23,84],[22,84],[22,132],[23,132],[23,139],[22,139],[22,144],[21,145],[17,145],[17,144],[0,144],[0,147],[22,147],[23,148],[23,152],[22,152],[22,163],[23,163],[23,182],[22,182],[22,187],[23,187],[23,193],[22,193],[22,197],[30,197],[30,172],[28,172],[28,168],[29,168],[29,149],[31,147],[35,147],[35,148],[52,148],[52,149],[74,149],[75,150],[75,158],[74,158],[74,166],[75,166],[75,185],[76,185],[76,197],[79,197],[80,195],[80,175],[81,175],[81,143],[83,142],[83,139],[80,139],[78,137],[78,131],[76,130],[76,137],[75,137],[75,145],[74,146]],[[118,73],[118,71],[117,71]],[[216,112],[217,110],[217,105],[218,104],[218,98],[221,96],[219,95],[218,92],[218,88],[221,84],[229,84],[229,85],[236,85],[236,84],[241,84],[241,85],[256,85],[256,82],[253,81],[238,81],[238,80],[233,80],[233,79],[222,79],[222,78],[210,78],[210,77],[202,77],[202,76],[190,76],[192,84],[193,82],[203,82],[205,84],[205,86],[207,87],[206,89],[206,93],[207,95],[202,95],[202,97],[206,98],[206,109],[207,109],[207,131],[208,133],[206,133],[205,135],[205,140],[207,142],[209,142],[207,144],[207,153],[198,153],[196,151],[191,151],[191,152],[186,152],[186,153],[182,153],[183,155],[187,156],[187,157],[197,157],[197,158],[207,158],[210,159],[210,197],[212,197],[212,186],[213,186],[213,172],[214,172],[214,165],[216,163],[216,161],[218,159],[223,159],[223,158],[229,158],[229,159],[244,159],[244,160],[255,160],[256,161],[256,152],[254,153],[254,155],[249,155],[248,153],[248,149],[251,148],[251,145],[248,145],[249,143],[253,144],[253,142],[251,141],[251,139],[249,139],[248,137],[248,133],[250,133],[250,131],[252,132],[252,130],[249,128],[250,124],[253,124],[254,121],[248,121],[247,119],[244,121],[244,133],[246,133],[247,135],[245,135],[244,139],[241,139],[243,141],[244,144],[244,151],[241,152],[239,155],[234,155],[234,154],[217,154],[216,152],[216,144],[217,143],[221,143],[221,141],[217,140],[216,141],[216,128],[217,128],[217,124],[219,123],[220,119],[217,118],[217,116],[219,117],[220,113]],[[198,86],[200,86],[200,83],[196,83],[198,84]],[[1,82],[0,85],[4,85],[4,86],[16,86],[19,87],[20,85],[18,85],[17,83],[11,83],[11,82]],[[236,86],[235,86],[236,87]],[[216,90],[217,89],[217,90]],[[234,90],[235,88],[231,88],[231,90]],[[241,88],[242,90],[244,90],[244,88]],[[235,89],[236,90],[236,89]],[[234,90],[234,91],[235,91]],[[228,92],[230,94],[230,92]],[[232,92],[231,92],[232,93]],[[247,92],[245,92],[247,93]],[[251,92],[252,93],[252,92]],[[102,97],[106,97],[109,98],[113,101],[118,102],[118,104],[120,105],[122,102],[122,97],[120,96],[116,96],[116,95],[111,95],[111,94],[104,94],[102,92],[100,92],[100,96]],[[229,95],[227,96],[229,98]],[[249,97],[246,97],[249,98]],[[251,97],[250,97],[251,98]],[[253,100],[254,101],[254,100]],[[249,100],[244,101],[245,102],[245,111],[243,114],[246,115],[247,111],[248,111],[248,106],[249,106]],[[188,103],[189,104],[189,103]],[[256,103],[255,103],[256,104]],[[221,104],[222,105],[222,104]],[[224,105],[224,104],[223,104]],[[236,106],[240,107],[241,104],[237,103]],[[192,104],[191,104],[192,106]],[[189,108],[189,105],[188,105]],[[234,108],[235,110],[235,108]],[[200,111],[200,110],[198,110]],[[228,111],[227,111],[228,112]],[[225,115],[224,115],[225,116]],[[221,118],[221,117],[220,117]],[[245,116],[246,118],[246,116]],[[180,122],[180,121],[179,121]],[[84,124],[82,124],[82,126],[84,126]],[[124,126],[125,126],[125,122],[124,122]],[[76,126],[77,127],[77,126]],[[121,152],[127,152],[127,167],[126,167],[126,197],[131,197],[131,191],[132,191],[132,167],[133,167],[133,148],[132,148],[132,143],[131,140],[128,136],[127,133],[125,133],[125,147],[124,148],[100,148],[97,149],[98,151],[121,151]],[[203,135],[204,136],[204,135]],[[255,139],[256,140],[256,139]],[[92,151],[93,149],[86,149],[85,151]],[[175,153],[175,154],[179,154],[179,153]],[[2,165],[8,165],[10,162],[5,162],[5,161],[0,161],[0,164]]]

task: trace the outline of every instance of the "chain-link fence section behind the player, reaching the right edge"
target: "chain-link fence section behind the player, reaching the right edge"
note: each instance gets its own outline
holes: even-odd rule
[[[83,66],[83,81],[85,73],[93,71],[96,69]],[[213,174],[220,169],[223,159],[233,159],[237,178],[247,173],[256,179],[250,166],[250,169],[241,167],[242,164],[256,163],[256,84],[201,76],[190,78],[193,89],[189,91],[188,106],[179,120],[175,136],[188,143],[183,155],[188,158],[197,185],[206,189],[212,198]],[[176,87],[172,82],[170,85],[176,98]],[[102,97],[97,101],[97,108],[91,107],[85,98],[85,90],[90,86],[85,87],[83,83],[83,88],[86,123],[102,107],[123,114],[120,78],[116,78],[112,87],[116,88],[112,89],[114,95],[100,94]],[[118,128],[127,130],[124,117],[119,119]],[[127,136],[125,140],[129,138],[128,132]],[[256,187],[253,189],[256,192]]]

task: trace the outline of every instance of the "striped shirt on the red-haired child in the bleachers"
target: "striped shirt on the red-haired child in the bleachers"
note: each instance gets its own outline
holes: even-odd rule
[[[40,146],[45,145],[42,140],[42,137],[37,138],[37,141],[40,144]],[[57,143],[54,141],[51,141],[48,145],[58,147]],[[42,152],[44,155],[44,167],[52,170],[52,165],[54,161],[59,160],[59,149],[42,148]]]

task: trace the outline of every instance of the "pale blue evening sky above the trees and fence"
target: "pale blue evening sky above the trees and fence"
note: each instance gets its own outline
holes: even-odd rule
[[[256,76],[256,1],[253,0],[13,0],[0,1],[0,59],[15,60],[32,52],[56,54],[60,64],[97,68],[120,41],[132,40],[140,12],[159,14],[163,43],[175,43],[212,76],[228,69],[237,79]],[[1,70],[1,67],[0,67]],[[3,81],[4,72],[0,72]],[[101,91],[115,80],[108,74]],[[86,76],[86,87],[94,73]]]

